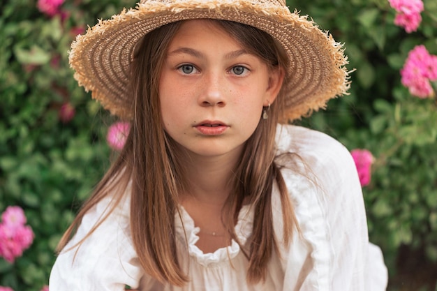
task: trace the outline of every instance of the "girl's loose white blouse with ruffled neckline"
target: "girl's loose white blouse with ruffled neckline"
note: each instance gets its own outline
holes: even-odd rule
[[[281,243],[281,202],[274,187],[279,254],[272,255],[265,283],[246,283],[248,262],[235,241],[214,253],[203,253],[195,245],[200,229],[183,207],[179,208],[182,217],[175,217],[177,253],[191,281],[182,288],[158,283],[145,274],[134,251],[126,195],[79,248],[58,256],[50,291],[121,291],[125,285],[142,291],[385,290],[387,269],[380,249],[369,244],[360,181],[348,150],[332,137],[298,126],[278,126],[276,144],[278,154],[293,152],[304,162],[295,164],[304,174],[281,170],[301,233],[294,232],[288,246]],[[317,178],[311,178],[313,174]],[[68,246],[89,232],[110,203],[107,197],[84,216]],[[251,235],[253,216],[250,205],[239,212],[235,231],[242,244]]]

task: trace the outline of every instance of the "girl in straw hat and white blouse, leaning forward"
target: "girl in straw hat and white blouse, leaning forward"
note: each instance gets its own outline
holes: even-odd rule
[[[142,1],[70,61],[131,131],[50,290],[385,290],[348,151],[279,125],[349,87],[341,45],[285,1]]]

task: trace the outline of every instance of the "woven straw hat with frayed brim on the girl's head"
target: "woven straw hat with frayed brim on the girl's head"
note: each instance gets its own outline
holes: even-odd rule
[[[141,0],[77,36],[69,55],[75,79],[112,114],[131,119],[126,92],[138,40],[164,24],[202,18],[249,24],[283,46],[290,65],[282,122],[307,116],[346,94],[350,82],[341,44],[306,16],[291,13],[285,0]]]

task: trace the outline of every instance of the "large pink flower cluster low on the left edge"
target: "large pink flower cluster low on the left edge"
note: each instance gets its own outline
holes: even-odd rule
[[[0,256],[8,262],[14,262],[34,241],[34,232],[29,225],[24,225],[26,217],[20,209],[8,207],[1,216]]]

